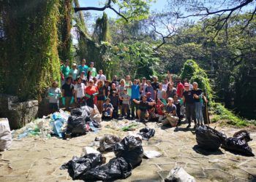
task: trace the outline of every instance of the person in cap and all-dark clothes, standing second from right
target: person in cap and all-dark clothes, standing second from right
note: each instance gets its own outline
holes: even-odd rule
[[[195,119],[195,100],[192,93],[192,90],[189,90],[189,84],[184,84],[185,91],[183,92],[183,103],[185,103],[186,108],[186,116],[187,116],[187,122],[189,125],[187,125],[187,128],[191,127],[191,119],[194,120],[195,126],[197,127],[196,119]]]

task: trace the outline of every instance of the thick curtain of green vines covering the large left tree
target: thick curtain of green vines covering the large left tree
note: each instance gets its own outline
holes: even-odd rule
[[[20,100],[40,98],[53,80],[59,80],[59,5],[59,0],[1,1],[4,93]]]

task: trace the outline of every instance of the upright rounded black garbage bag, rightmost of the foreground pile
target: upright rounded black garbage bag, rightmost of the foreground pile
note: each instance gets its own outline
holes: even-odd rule
[[[127,136],[120,143],[116,143],[114,152],[116,157],[124,157],[132,167],[140,165],[143,157],[141,141],[134,136]]]

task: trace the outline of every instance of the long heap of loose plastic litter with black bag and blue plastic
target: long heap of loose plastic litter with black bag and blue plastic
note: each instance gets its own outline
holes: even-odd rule
[[[59,109],[59,112],[35,119],[20,130],[13,130],[12,138],[51,138],[52,135],[65,138],[66,135],[76,136],[85,135],[89,131],[97,132],[101,115],[95,107],[74,108],[70,113]]]

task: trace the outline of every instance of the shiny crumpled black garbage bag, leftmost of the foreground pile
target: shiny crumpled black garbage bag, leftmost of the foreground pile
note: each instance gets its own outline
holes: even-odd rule
[[[102,165],[105,159],[102,154],[86,154],[83,157],[73,157],[72,160],[64,165],[61,165],[60,169],[67,169],[69,175],[73,180],[83,180],[83,174],[91,168]]]

